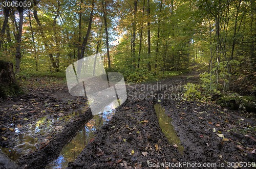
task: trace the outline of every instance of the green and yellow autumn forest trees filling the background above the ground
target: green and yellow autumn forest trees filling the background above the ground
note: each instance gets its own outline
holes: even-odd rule
[[[65,72],[98,52],[126,81],[201,63],[210,88],[227,91],[238,70],[255,71],[252,0],[7,0],[0,24],[1,60],[16,74]]]

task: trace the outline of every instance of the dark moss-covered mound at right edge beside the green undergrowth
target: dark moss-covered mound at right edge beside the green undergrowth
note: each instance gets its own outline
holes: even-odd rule
[[[217,100],[217,104],[223,107],[229,107],[233,110],[246,110],[249,112],[256,111],[256,98],[254,96],[239,96],[238,94],[231,94],[229,96],[222,96]]]

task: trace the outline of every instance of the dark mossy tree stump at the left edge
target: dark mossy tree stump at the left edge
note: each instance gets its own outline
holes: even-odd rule
[[[15,79],[12,63],[0,60],[0,97],[17,96],[22,93]]]

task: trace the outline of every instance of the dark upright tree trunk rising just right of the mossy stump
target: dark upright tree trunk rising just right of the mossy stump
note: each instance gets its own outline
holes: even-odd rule
[[[17,35],[17,46],[16,46],[16,65],[15,65],[15,73],[19,74],[20,71],[20,60],[22,59],[22,53],[21,53],[21,42],[22,42],[22,30],[23,30],[23,7],[17,7],[18,13],[19,13],[19,23],[18,23],[18,35]]]

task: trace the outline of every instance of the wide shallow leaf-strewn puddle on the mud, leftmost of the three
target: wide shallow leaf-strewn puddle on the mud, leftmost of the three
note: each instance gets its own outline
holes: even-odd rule
[[[17,161],[17,159],[20,158],[21,156],[34,152],[36,149],[38,149],[40,142],[48,141],[48,138],[38,138],[42,136],[44,137],[54,130],[58,130],[60,126],[55,126],[54,123],[56,124],[61,120],[67,122],[72,117],[78,116],[80,114],[81,110],[74,111],[69,115],[62,116],[59,118],[49,119],[48,116],[44,116],[39,118],[32,124],[28,124],[27,126],[15,126],[14,124],[11,124],[10,127],[15,127],[15,137],[13,138],[14,146],[0,146],[0,149],[10,159]]]

